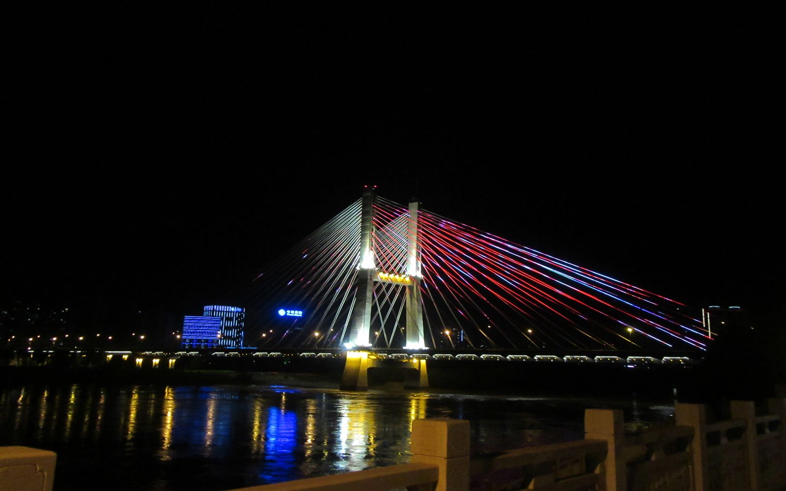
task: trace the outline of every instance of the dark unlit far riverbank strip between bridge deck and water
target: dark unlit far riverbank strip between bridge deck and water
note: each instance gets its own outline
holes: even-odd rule
[[[86,360],[86,361],[84,361]],[[138,366],[133,359],[53,358],[40,365],[0,366],[0,385],[101,383],[105,385],[259,384],[337,388],[344,361],[256,357],[182,357]],[[402,390],[406,364],[369,368],[369,388]],[[545,396],[630,396],[710,402],[718,397],[757,399],[775,394],[762,376],[718,377],[714,365],[644,365],[511,361],[428,361],[429,390],[470,390],[490,394]],[[296,382],[296,383],[293,383]]]

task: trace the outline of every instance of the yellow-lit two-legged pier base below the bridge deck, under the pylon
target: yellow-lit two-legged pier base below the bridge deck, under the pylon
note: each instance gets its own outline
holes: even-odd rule
[[[341,390],[368,390],[369,368],[404,368],[404,387],[428,388],[428,369],[425,360],[380,360],[369,357],[368,351],[347,351],[347,361],[341,375]]]

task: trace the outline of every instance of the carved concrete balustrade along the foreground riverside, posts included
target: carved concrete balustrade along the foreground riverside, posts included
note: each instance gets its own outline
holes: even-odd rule
[[[482,489],[786,489],[786,399],[755,416],[732,401],[733,419],[707,423],[703,405],[676,405],[676,425],[624,432],[623,412],[587,409],[585,439],[470,457],[469,422],[414,420],[412,462],[236,491],[468,491]],[[54,454],[0,448],[0,491],[48,490]]]

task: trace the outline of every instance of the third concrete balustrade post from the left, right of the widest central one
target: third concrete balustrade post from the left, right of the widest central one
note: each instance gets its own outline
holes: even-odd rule
[[[608,453],[604,467],[606,491],[627,490],[627,469],[623,459],[625,446],[625,417],[621,409],[585,409],[584,438],[605,440]]]

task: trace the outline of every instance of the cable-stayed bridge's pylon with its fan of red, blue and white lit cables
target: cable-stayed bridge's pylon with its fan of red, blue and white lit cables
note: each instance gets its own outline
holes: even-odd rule
[[[479,355],[707,349],[700,310],[375,191],[366,186],[236,300],[248,306],[250,344]]]

